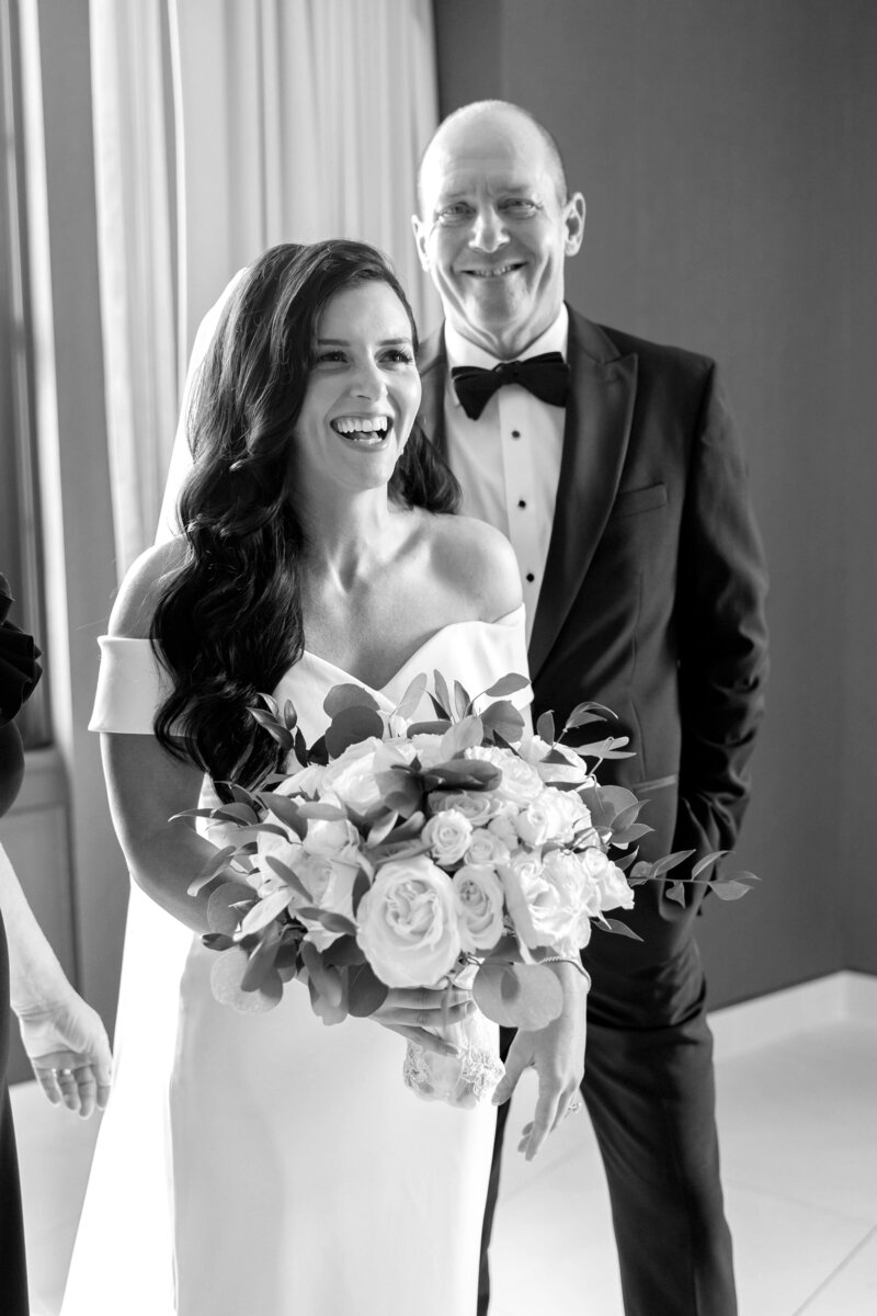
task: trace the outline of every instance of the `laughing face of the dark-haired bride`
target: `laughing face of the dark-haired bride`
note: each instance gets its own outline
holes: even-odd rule
[[[412,326],[393,290],[369,280],[335,293],[320,317],[296,422],[296,484],[385,484],[419,401]]]

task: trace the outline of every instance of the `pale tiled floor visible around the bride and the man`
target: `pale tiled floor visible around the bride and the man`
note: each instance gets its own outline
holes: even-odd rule
[[[740,1316],[877,1313],[877,979],[838,974],[713,1017]],[[57,1316],[95,1120],[12,1094],[33,1316]],[[522,1091],[513,1125],[526,1119]],[[510,1128],[510,1134],[514,1128]],[[509,1136],[492,1316],[622,1316],[584,1112],[527,1166]]]

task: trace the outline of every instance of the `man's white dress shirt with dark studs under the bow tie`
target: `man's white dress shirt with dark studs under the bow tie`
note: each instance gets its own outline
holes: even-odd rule
[[[554,324],[518,359],[559,351],[565,361],[568,333],[569,315],[561,307]],[[521,569],[529,640],[548,557],[567,412],[540,401],[521,384],[504,384],[479,418],[471,420],[456,396],[451,370],[493,370],[500,362],[447,322],[444,346],[444,433],[451,470],[463,486],[460,511],[489,521],[511,541]]]

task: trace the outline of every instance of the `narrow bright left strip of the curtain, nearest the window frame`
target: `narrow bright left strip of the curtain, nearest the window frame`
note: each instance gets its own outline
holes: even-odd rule
[[[178,409],[164,0],[91,0],[104,388],[118,578],[153,541]]]

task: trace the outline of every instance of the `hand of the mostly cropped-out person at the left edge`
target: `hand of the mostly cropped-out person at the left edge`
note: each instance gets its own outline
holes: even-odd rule
[[[53,1105],[87,1119],[109,1098],[113,1057],[95,1009],[72,987],[63,998],[18,1016],[21,1041],[37,1082]]]

